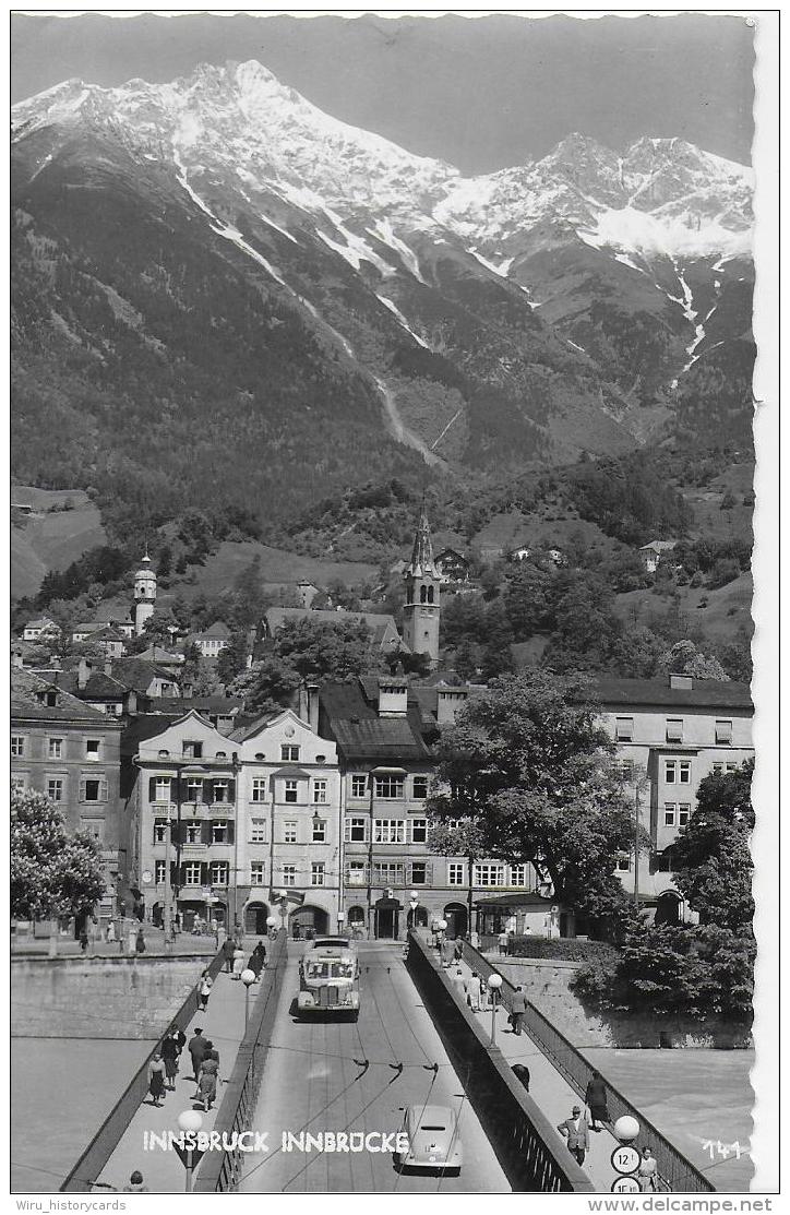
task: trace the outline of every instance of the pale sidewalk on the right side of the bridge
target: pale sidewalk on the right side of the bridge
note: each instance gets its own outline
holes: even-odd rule
[[[456,963],[445,973],[452,974]],[[467,962],[461,963],[463,976],[469,978],[472,970]],[[478,1012],[478,1021],[484,1027],[486,1034],[491,1033],[491,1010]],[[530,1097],[541,1107],[552,1126],[565,1121],[570,1117],[574,1106],[583,1108],[583,1101],[575,1089],[559,1074],[553,1063],[543,1055],[541,1049],[532,1041],[529,1033],[523,1029],[521,1034],[514,1034],[507,1019],[507,1010],[500,1006],[496,1015],[496,1045],[510,1064],[523,1063],[530,1070]],[[562,1141],[559,1131],[557,1138]],[[617,1147],[617,1140],[611,1131],[602,1130],[589,1132],[589,1152],[583,1164],[583,1170],[596,1187],[597,1193],[609,1193],[611,1182],[617,1174],[611,1168],[610,1157]]]

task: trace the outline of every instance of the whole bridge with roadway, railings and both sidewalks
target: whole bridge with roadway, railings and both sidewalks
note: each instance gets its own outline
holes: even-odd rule
[[[208,1018],[196,1021],[193,998],[179,1013],[187,1034],[205,1023],[220,1049],[225,1079],[219,1108],[203,1124],[205,1131],[225,1132],[225,1145],[218,1141],[202,1157],[196,1192],[609,1192],[615,1179],[611,1130],[591,1135],[582,1169],[555,1129],[581,1103],[592,1068],[532,1007],[525,1034],[506,1032],[513,993],[507,981],[492,1045],[491,1012],[467,1007],[436,950],[419,936],[410,937],[407,950],[391,942],[361,942],[359,1022],[301,1021],[294,1001],[303,949],[280,934],[259,989],[253,989],[247,1029],[244,990],[230,976],[218,976]],[[493,970],[467,944],[462,967],[484,977]],[[529,1092],[512,1070],[517,1062],[529,1067]],[[61,1188],[122,1188],[136,1168],[152,1192],[182,1191],[185,1171],[176,1153],[143,1152],[146,1132],[177,1131],[179,1114],[192,1106],[194,1085],[184,1074],[191,1070],[188,1062],[182,1061],[181,1070],[176,1092],[160,1108],[145,1103],[139,1073]],[[639,1119],[642,1138],[659,1160],[661,1188],[713,1189],[626,1098],[608,1089],[613,1118],[631,1113]],[[391,1136],[404,1108],[428,1104],[456,1111],[464,1151],[458,1177],[395,1168]],[[255,1149],[241,1148],[242,1131],[253,1132],[247,1143]],[[326,1132],[356,1132],[357,1142],[362,1134],[367,1141],[362,1151],[322,1149]]]

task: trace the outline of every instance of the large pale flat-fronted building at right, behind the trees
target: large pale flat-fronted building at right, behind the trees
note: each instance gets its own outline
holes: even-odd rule
[[[672,843],[696,807],[700,781],[754,756],[747,684],[693,679],[599,679],[591,699],[616,742],[638,821],[649,837],[619,861],[627,891],[656,920],[688,919],[672,878]]]

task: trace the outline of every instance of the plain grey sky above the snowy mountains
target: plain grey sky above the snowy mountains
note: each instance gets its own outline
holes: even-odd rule
[[[574,131],[623,151],[681,137],[750,162],[754,30],[734,16],[15,15],[12,100],[68,78],[162,83],[254,57],[321,109],[464,174]]]

